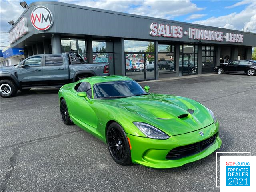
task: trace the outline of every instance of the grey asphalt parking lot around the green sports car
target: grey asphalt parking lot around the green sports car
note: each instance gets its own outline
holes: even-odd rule
[[[152,92],[192,98],[220,122],[219,152],[256,155],[256,77],[217,75],[141,83]],[[58,89],[1,98],[1,190],[219,191],[216,153],[179,168],[120,166],[106,144],[60,118]]]

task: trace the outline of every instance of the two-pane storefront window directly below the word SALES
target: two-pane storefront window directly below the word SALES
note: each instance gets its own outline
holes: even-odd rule
[[[175,46],[158,44],[158,69],[159,73],[175,71]]]

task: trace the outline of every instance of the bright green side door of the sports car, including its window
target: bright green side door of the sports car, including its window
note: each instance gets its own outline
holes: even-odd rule
[[[97,117],[92,109],[93,101],[86,101],[84,97],[78,97],[78,92],[86,92],[88,98],[92,97],[92,87],[88,82],[81,82],[74,87],[74,96],[68,98],[68,106],[70,113],[74,118],[82,121],[89,126],[96,128]]]

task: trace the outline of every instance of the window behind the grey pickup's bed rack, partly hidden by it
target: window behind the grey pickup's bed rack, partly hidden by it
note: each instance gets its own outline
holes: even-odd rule
[[[61,39],[61,52],[70,52],[70,50],[75,50],[78,54],[88,63],[88,53],[86,48],[86,41],[83,39],[71,39],[71,38],[62,38]]]

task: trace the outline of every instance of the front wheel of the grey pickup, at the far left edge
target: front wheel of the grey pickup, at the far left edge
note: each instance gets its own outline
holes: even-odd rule
[[[0,92],[1,97],[13,97],[16,95],[18,88],[12,80],[1,80]]]

